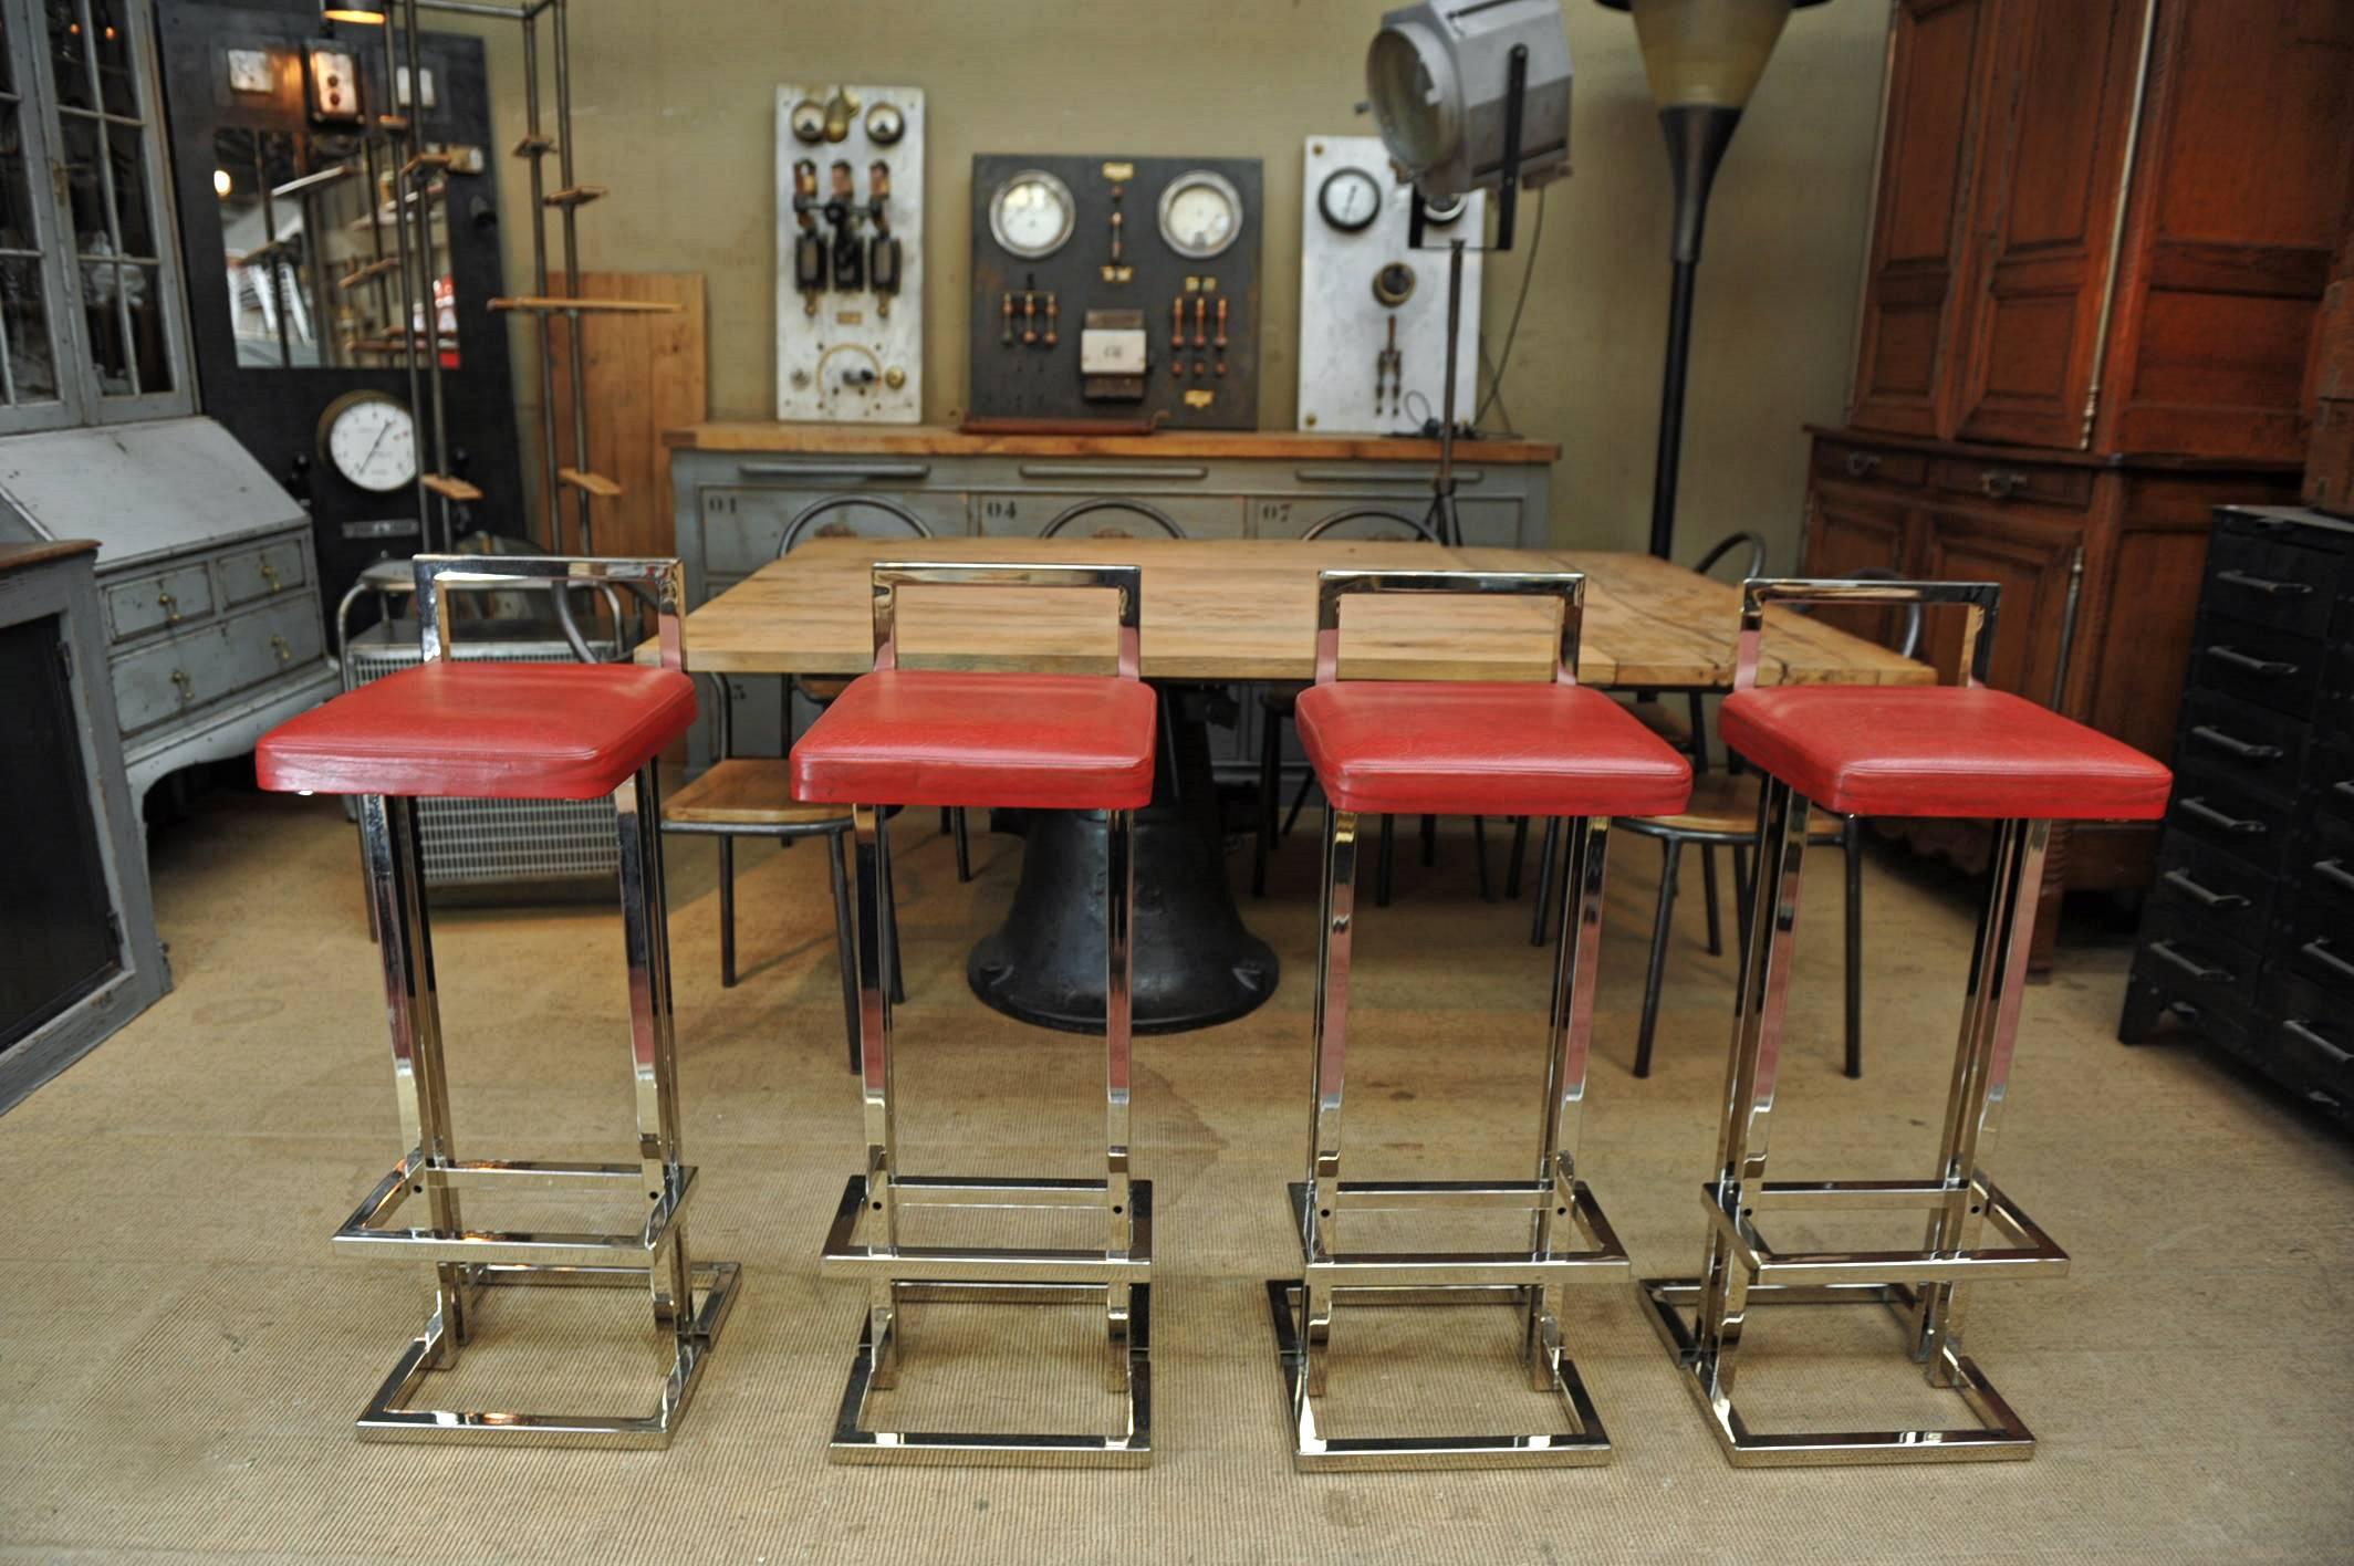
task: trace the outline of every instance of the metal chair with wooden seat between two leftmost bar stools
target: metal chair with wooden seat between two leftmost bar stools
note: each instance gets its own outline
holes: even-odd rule
[[[793,801],[793,779],[784,756],[734,754],[734,692],[727,676],[709,676],[718,690],[711,709],[718,728],[718,758],[701,777],[685,784],[661,805],[661,829],[680,836],[718,838],[720,850],[720,987],[737,982],[734,966],[734,845],[737,838],[840,838],[850,831],[850,810],[840,805],[803,805]],[[883,956],[892,1001],[906,1001],[899,982],[899,918],[890,897],[890,845],[885,843],[883,885]],[[859,987],[850,956],[850,888],[843,881],[843,857],[829,848],[826,869],[833,876],[833,951],[843,970],[843,1027],[850,1034],[850,1069],[859,1069]]]

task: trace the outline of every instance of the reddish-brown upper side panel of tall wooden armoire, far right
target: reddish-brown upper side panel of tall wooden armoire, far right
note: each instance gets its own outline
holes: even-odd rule
[[[2354,5],[2159,7],[2095,443],[2305,452],[2328,257],[2354,217]]]

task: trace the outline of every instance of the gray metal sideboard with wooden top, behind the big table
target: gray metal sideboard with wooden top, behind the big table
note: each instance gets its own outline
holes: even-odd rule
[[[1434,440],[1297,433],[1158,436],[967,436],[949,429],[833,424],[694,424],[664,436],[687,598],[704,603],[777,558],[786,527],[810,506],[845,497],[814,535],[904,535],[880,506],[897,502],[935,535],[1036,535],[1088,499],[1135,499],[1186,537],[1288,539],[1361,506],[1419,518],[1438,464]],[[1542,440],[1478,440],[1455,447],[1464,542],[1551,542],[1551,464]],[[1146,518],[1097,513],[1073,527],[1149,535]],[[784,746],[782,681],[734,678],[734,746],[777,756]],[[814,706],[796,697],[796,732]],[[1257,723],[1212,730],[1222,775],[1248,775]],[[711,721],[697,725],[690,772],[711,763]]]

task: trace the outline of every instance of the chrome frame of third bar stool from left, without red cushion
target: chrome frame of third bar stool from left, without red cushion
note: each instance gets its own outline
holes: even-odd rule
[[[1561,650],[1554,678],[1577,683],[1577,631],[1584,615],[1580,572],[1398,572],[1328,570],[1316,593],[1316,683],[1339,678],[1339,603],[1351,593],[1547,593],[1561,598]],[[1342,1180],[1339,1128],[1349,1060],[1349,963],[1356,923],[1358,812],[1330,810],[1316,949],[1314,1074],[1306,1180],[1292,1182],[1299,1229],[1299,1279],[1269,1279],[1283,1389],[1292,1418],[1297,1469],[1431,1469],[1504,1465],[1598,1465],[1610,1436],[1563,1347],[1565,1283],[1629,1274],[1627,1248],[1577,1177],[1577,1130],[1587,1095],[1594,1020],[1594,970],[1603,916],[1608,817],[1570,817],[1570,867],[1561,883],[1561,944],[1554,958],[1547,1022],[1542,1152],[1532,1180]],[[1342,1250],[1344,1215],[1377,1210],[1528,1213],[1525,1250]],[[1561,1246],[1565,1232],[1584,1248]],[[1554,1392],[1570,1415],[1568,1434],[1349,1436],[1318,1429],[1332,1349],[1332,1307],[1358,1305],[1511,1305],[1525,1316],[1528,1385]]]

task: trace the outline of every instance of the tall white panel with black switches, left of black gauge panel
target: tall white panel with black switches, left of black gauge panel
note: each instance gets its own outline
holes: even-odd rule
[[[777,87],[777,417],[923,419],[918,87]]]

